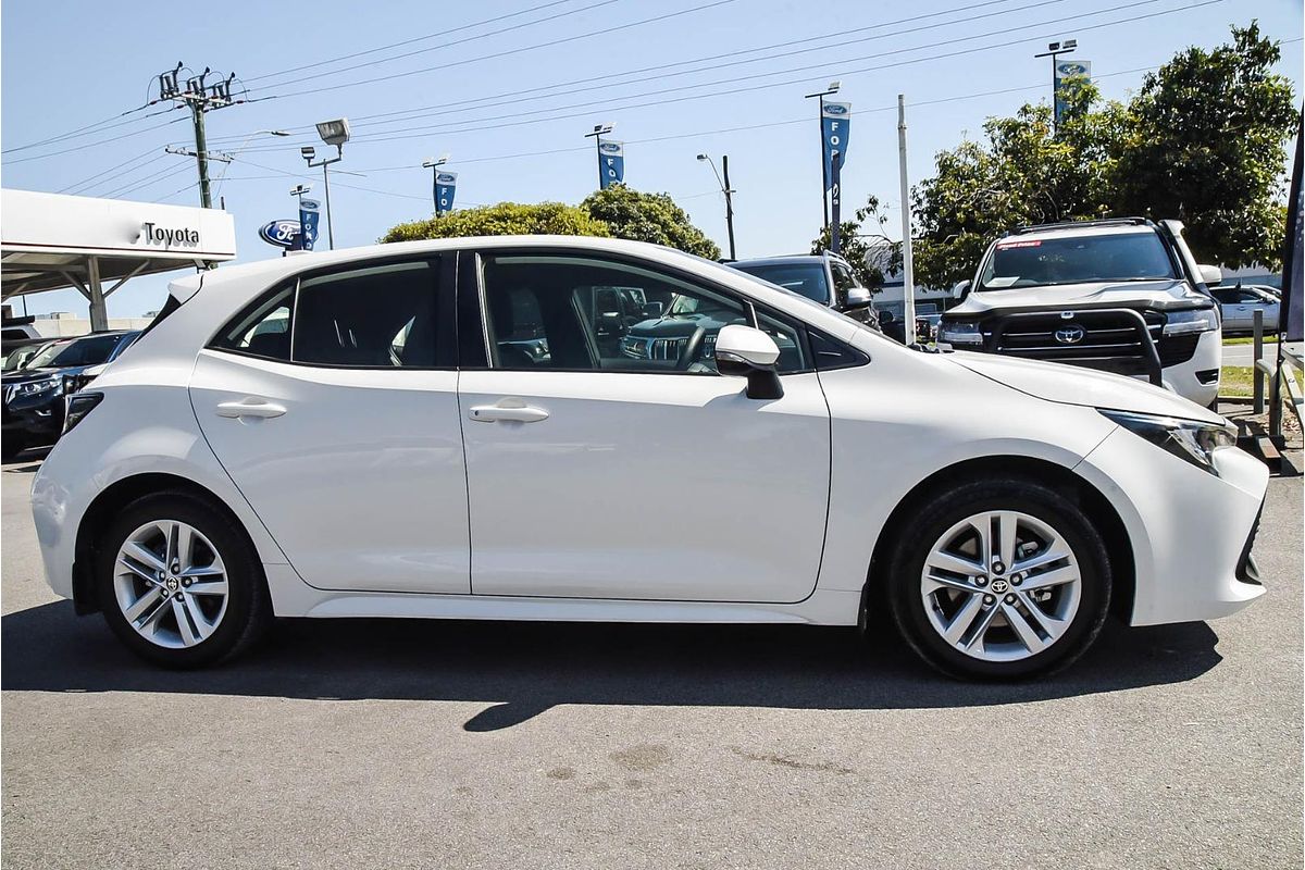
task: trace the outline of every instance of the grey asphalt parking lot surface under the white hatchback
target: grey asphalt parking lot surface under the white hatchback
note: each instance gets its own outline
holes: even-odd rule
[[[171,673],[3,484],[5,867],[1300,867],[1301,479],[1268,593],[971,685],[851,630],[287,621]]]

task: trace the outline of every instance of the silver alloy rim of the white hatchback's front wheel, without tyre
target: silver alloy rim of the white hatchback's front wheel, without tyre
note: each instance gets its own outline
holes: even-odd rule
[[[1054,644],[1074,621],[1082,587],[1065,537],[1010,510],[955,523],[929,549],[920,575],[929,623],[984,661],[1018,661]]]

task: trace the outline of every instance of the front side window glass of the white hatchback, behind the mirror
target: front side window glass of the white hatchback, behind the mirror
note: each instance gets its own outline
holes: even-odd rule
[[[493,256],[483,269],[496,368],[715,374],[715,340],[752,305],[647,269],[564,256]],[[760,313],[782,372],[806,368],[800,330]]]

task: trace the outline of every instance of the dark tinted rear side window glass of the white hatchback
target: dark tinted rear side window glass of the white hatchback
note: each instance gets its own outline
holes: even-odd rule
[[[213,346],[305,365],[433,368],[436,280],[428,261],[304,278],[239,314]]]

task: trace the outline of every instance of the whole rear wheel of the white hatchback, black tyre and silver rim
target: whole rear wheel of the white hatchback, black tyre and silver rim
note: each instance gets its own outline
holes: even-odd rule
[[[129,503],[97,547],[95,583],[114,633],[167,668],[200,668],[247,650],[271,622],[262,563],[248,536],[185,492]]]

